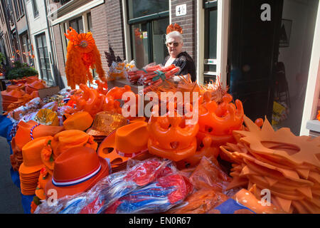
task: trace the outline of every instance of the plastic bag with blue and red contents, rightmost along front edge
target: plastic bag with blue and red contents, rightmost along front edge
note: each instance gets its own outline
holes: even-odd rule
[[[183,175],[171,174],[159,178],[142,189],[121,197],[106,214],[161,213],[183,202],[193,185]]]

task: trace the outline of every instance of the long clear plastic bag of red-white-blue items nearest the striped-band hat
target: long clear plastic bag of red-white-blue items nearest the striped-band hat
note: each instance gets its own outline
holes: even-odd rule
[[[55,204],[41,201],[35,214],[99,214],[117,199],[137,190],[159,177],[176,173],[171,160],[151,158],[144,161],[128,162],[127,170],[109,175],[87,192],[65,196]]]

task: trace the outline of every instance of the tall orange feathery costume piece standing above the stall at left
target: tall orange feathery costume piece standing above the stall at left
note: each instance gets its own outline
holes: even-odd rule
[[[97,50],[92,33],[78,34],[70,27],[65,37],[69,40],[67,62],[65,63],[68,86],[75,89],[75,85],[86,84],[88,80],[92,83],[90,68],[95,68],[99,78],[107,81],[105,71],[102,69],[100,52]]]

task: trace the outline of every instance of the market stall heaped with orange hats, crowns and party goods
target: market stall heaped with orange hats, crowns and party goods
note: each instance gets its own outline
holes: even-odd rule
[[[320,212],[320,138],[250,120],[219,79],[170,83],[174,65],[114,62],[106,76],[91,34],[66,36],[70,89],[39,98],[46,85],[33,77],[3,93],[1,136],[26,213]],[[86,86],[90,68],[97,88]],[[141,94],[110,88],[114,78],[152,94],[150,115],[124,115],[139,109]]]

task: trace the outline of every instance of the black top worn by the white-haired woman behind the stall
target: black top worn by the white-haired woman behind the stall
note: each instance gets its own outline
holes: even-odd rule
[[[168,61],[169,58],[170,56],[166,56],[162,65],[166,65],[166,61]],[[191,58],[191,56],[188,55],[188,53],[186,53],[186,51],[179,53],[172,64],[181,68],[181,70],[178,73],[176,73],[176,76],[185,76],[188,73],[190,73],[191,81],[196,81],[196,66],[193,62],[193,59]]]

